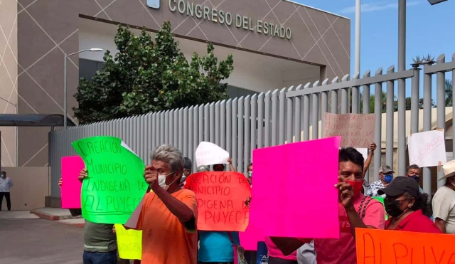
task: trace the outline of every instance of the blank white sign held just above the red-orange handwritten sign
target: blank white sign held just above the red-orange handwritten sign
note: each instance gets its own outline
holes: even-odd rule
[[[196,149],[196,165],[228,164],[229,152],[210,142],[200,142]]]

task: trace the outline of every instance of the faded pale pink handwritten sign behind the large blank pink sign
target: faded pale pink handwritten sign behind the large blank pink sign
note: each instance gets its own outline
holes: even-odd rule
[[[323,137],[341,137],[341,147],[370,147],[375,137],[375,114],[324,114]]]

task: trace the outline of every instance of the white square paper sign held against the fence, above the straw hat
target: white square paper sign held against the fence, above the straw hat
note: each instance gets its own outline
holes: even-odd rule
[[[432,167],[446,164],[444,131],[433,130],[411,134],[407,138],[410,164]]]

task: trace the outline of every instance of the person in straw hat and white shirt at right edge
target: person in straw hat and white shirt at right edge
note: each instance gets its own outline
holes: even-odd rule
[[[455,160],[442,166],[446,183],[433,197],[434,223],[442,233],[455,234]]]

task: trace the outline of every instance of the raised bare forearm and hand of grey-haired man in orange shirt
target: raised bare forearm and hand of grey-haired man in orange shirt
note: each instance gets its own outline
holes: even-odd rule
[[[151,170],[150,166],[147,167],[145,179],[151,187],[151,190],[154,191],[156,196],[158,196],[161,201],[163,201],[163,204],[169,209],[169,211],[171,211],[171,213],[178,218],[178,221],[186,224],[196,218],[190,207],[183,202],[178,201],[178,199],[169,194],[168,191],[159,186],[158,171]]]

